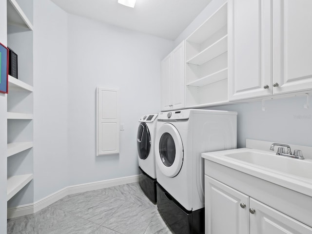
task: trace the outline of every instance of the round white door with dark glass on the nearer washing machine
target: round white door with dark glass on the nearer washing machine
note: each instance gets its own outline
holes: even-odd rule
[[[165,123],[156,135],[156,162],[160,171],[168,177],[176,176],[183,163],[183,144],[179,132],[171,123]]]

